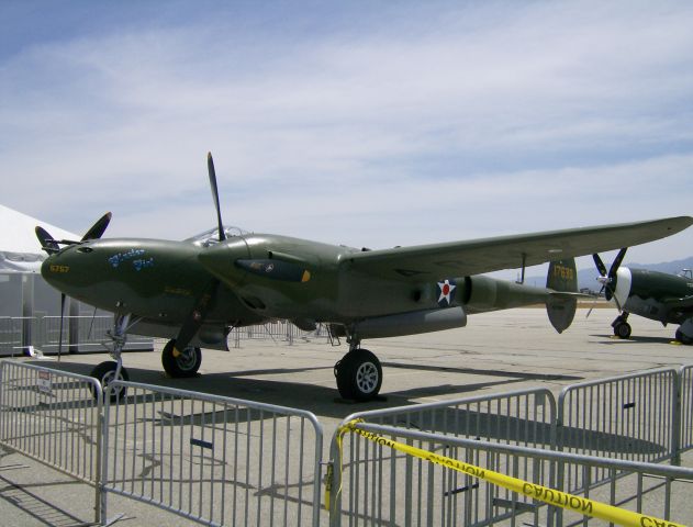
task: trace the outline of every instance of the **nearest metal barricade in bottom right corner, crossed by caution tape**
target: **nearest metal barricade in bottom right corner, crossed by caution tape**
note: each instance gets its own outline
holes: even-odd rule
[[[456,438],[440,434],[431,434],[413,429],[403,429],[387,425],[359,423],[362,430],[378,434],[385,438],[415,445],[440,456],[465,461],[487,471],[495,471],[517,478],[529,485],[543,485],[556,490],[566,490],[569,481],[560,473],[581,472],[585,481],[592,481],[602,473],[608,474],[610,485],[580,493],[589,500],[607,503],[629,511],[684,523],[693,517],[693,503],[690,502],[689,487],[693,483],[693,470],[680,467],[634,462],[627,460],[603,459],[591,456],[557,452],[532,447],[499,444],[470,438]],[[351,460],[353,464],[372,466],[373,474],[387,473],[394,463],[389,447],[382,447],[358,436],[364,442],[360,456]],[[347,438],[348,439],[348,438]],[[351,440],[354,442],[355,439]],[[370,448],[366,445],[370,444]],[[404,458],[399,453],[395,458]],[[409,456],[406,456],[409,457]],[[337,458],[338,459],[338,458]],[[407,500],[402,500],[396,507],[388,511],[378,508],[379,493],[393,492],[389,485],[382,490],[366,485],[355,508],[349,511],[332,509],[331,525],[342,525],[342,520],[354,525],[445,525],[445,526],[485,526],[485,525],[592,525],[583,512],[565,511],[555,505],[547,505],[538,500],[496,486],[483,479],[477,479],[440,464],[424,461],[425,472],[412,473],[404,482],[405,487],[415,486],[418,481],[427,485],[425,508],[411,507]],[[560,470],[562,468],[562,470]],[[338,469],[335,469],[338,475]],[[458,486],[448,484],[450,473],[458,473]],[[391,482],[391,481],[390,481]],[[338,478],[333,485],[333,496],[338,502],[339,492],[351,484]],[[530,489],[535,489],[530,486]],[[421,498],[422,496],[415,496]],[[431,500],[431,498],[434,500]],[[585,503],[585,502],[581,502]],[[407,509],[411,509],[407,514]],[[384,514],[382,514],[384,513]],[[603,524],[600,524],[603,525]],[[666,523],[645,523],[642,525],[667,525]]]

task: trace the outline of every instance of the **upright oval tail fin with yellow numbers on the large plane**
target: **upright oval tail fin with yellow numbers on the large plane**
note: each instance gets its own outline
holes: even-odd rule
[[[546,288],[550,290],[546,300],[549,321],[558,333],[563,333],[572,324],[578,307],[575,259],[551,261],[546,277]]]

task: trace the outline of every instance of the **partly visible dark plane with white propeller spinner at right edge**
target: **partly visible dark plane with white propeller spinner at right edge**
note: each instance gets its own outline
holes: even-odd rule
[[[675,339],[681,344],[693,344],[693,277],[621,267],[626,250],[618,251],[608,272],[600,256],[592,255],[604,296],[621,312],[612,323],[614,335],[630,337],[628,316],[636,314],[659,321],[664,326],[679,324]]]

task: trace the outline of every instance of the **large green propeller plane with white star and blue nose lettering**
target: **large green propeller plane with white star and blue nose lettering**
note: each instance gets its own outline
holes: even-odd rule
[[[551,260],[549,285],[574,287],[579,255],[637,245],[678,233],[689,216],[503,236],[470,242],[367,250],[225,227],[212,156],[208,155],[217,225],[182,242],[101,239],[111,214],[79,242],[36,235],[48,253],[42,274],[65,295],[115,314],[111,355],[92,375],[103,384],[127,378],[121,350],[128,332],[170,338],[161,361],[168,374],[190,377],[200,347],[227,350],[233,327],[288,319],[302,329],[325,323],[349,351],[335,366],[345,399],[375,397],[382,383],[370,338],[465,326],[467,315],[546,302],[560,332],[574,315],[572,293],[477,276]],[[572,267],[571,267],[572,266]],[[551,273],[555,277],[551,277]],[[558,279],[560,278],[560,280]]]

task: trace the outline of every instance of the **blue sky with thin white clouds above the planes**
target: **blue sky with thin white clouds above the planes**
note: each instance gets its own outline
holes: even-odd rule
[[[1,203],[180,239],[214,224],[212,150],[225,223],[356,247],[691,215],[691,27],[689,2],[0,2]]]

